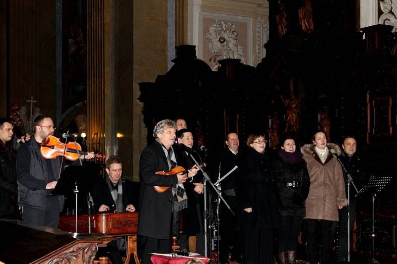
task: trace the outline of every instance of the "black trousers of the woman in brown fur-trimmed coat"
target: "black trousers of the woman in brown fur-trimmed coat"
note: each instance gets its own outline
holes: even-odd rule
[[[307,219],[307,244],[309,251],[310,263],[320,262],[317,238],[321,228],[321,262],[328,263],[331,261],[331,227],[332,221]]]

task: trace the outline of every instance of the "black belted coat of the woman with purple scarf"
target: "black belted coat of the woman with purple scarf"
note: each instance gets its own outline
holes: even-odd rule
[[[274,177],[280,197],[281,216],[306,216],[305,200],[309,194],[310,177],[306,162],[291,164],[278,155],[273,160]],[[298,187],[287,186],[287,182],[298,182]]]

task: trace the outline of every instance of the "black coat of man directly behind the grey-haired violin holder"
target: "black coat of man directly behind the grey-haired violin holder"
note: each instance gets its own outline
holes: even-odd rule
[[[195,163],[192,158],[188,157],[185,152],[178,151],[179,165],[183,166],[185,169],[191,168]],[[199,157],[195,155],[195,159],[199,162]],[[201,222],[203,222],[203,207],[200,207],[200,214],[197,211],[197,204],[203,205],[203,195],[198,194],[194,191],[196,185],[194,183],[202,182],[202,173],[199,171],[191,181],[188,179],[184,184],[186,195],[188,197],[188,207],[182,211],[182,226],[183,232],[186,235],[196,235],[202,231],[202,227],[199,225],[199,217],[201,217]]]

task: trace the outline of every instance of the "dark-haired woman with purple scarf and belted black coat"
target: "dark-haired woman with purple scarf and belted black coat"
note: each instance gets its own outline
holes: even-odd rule
[[[287,137],[273,160],[274,177],[280,195],[282,228],[278,233],[278,257],[281,264],[296,263],[296,249],[302,219],[306,216],[305,200],[310,177],[295,140]]]

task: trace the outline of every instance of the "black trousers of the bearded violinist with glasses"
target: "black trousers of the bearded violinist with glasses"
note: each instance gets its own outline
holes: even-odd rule
[[[23,207],[23,221],[38,226],[58,228],[60,205],[57,196],[47,196],[47,208],[45,210]]]

